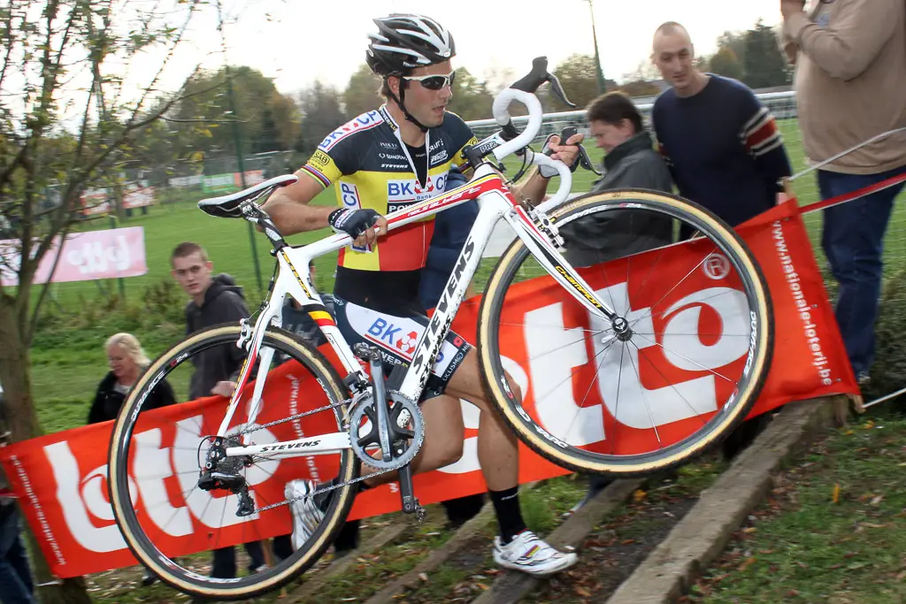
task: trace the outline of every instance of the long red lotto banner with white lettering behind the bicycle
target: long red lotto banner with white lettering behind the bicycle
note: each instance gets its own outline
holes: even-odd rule
[[[752,415],[793,400],[858,393],[795,201],[776,206],[737,230],[761,264],[775,308],[774,362]],[[634,361],[639,371],[623,371],[619,380],[614,379],[618,365],[605,360],[598,368],[590,362],[598,343],[571,337],[573,331],[594,329],[595,324],[568,293],[554,287],[547,276],[516,284],[507,296],[501,320],[501,352],[504,367],[525,395],[525,410],[554,435],[592,449],[605,443],[613,446],[607,438],[619,426],[620,438],[615,446],[623,453],[658,446],[652,441],[652,421],[658,427],[661,444],[678,442],[699,427],[700,418],[689,417],[688,407],[668,405],[659,392],[664,388],[713,392],[717,407],[717,401],[728,395],[726,387],[714,379],[713,373],[701,368],[737,367],[745,362],[747,353],[745,342],[724,337],[742,327],[738,321],[745,321],[732,308],[732,292],[738,291],[740,284],[722,255],[711,254],[701,262],[702,254],[695,251],[703,243],[693,240],[679,244],[670,248],[670,254],[657,250],[637,254],[631,260],[607,264],[605,270],[600,265],[580,270],[596,292],[616,303],[617,312],[627,312],[647,328],[638,332],[658,334],[659,341],[652,340],[652,348],[646,352],[678,351],[646,354],[649,366],[640,366],[636,350]],[[675,280],[651,280],[649,269],[655,263],[659,271],[689,273],[689,278],[675,288]],[[652,306],[665,310],[652,314]],[[477,308],[475,299],[464,302],[452,325],[471,341],[476,336]],[[369,325],[375,340],[390,342],[388,345],[400,350],[409,346],[407,326],[391,326],[375,318]],[[552,330],[551,326],[564,329]],[[697,337],[689,338],[689,333]],[[681,335],[687,337],[680,338]],[[643,350],[648,348],[643,341],[635,343]],[[336,361],[329,348],[322,350],[332,362]],[[545,354],[549,350],[556,350],[556,354]],[[631,347],[625,352],[633,354]],[[539,360],[544,361],[543,366]],[[633,375],[641,377],[632,378]],[[594,388],[589,388],[592,384]],[[545,396],[539,397],[542,402],[536,405],[535,393],[539,392]],[[619,408],[612,407],[617,394],[622,400]],[[294,361],[274,369],[263,397],[258,425],[327,402],[323,389]],[[626,402],[642,397],[647,405]],[[580,399],[581,409],[576,408]],[[462,406],[467,428],[464,455],[456,464],[415,477],[416,494],[422,503],[487,489],[477,461],[477,409],[465,402]],[[204,398],[140,416],[134,441],[138,446],[130,473],[133,504],[142,526],[152,532],[152,540],[171,555],[212,549],[207,534],[223,525],[226,529],[215,531],[219,535],[218,547],[228,542],[240,543],[248,534],[265,538],[291,531],[286,506],[239,518],[235,514],[222,515],[222,505],[208,505],[222,494],[193,491],[198,479],[198,436],[203,426],[217,426],[225,408],[223,398]],[[576,413],[581,414],[581,421],[573,421]],[[314,414],[260,430],[255,433],[255,441],[266,445],[333,432],[335,422],[332,426],[330,417],[321,416],[329,414]],[[566,425],[564,418],[569,422]],[[106,496],[110,431],[111,423],[79,427],[0,451],[0,463],[15,494],[22,497],[23,513],[38,536],[53,573],[59,577],[135,563],[113,521]],[[323,480],[335,475],[336,463],[329,455],[318,455],[274,460],[266,467],[250,468],[250,494],[259,504],[281,501],[287,481]],[[520,445],[520,483],[564,474],[564,469]],[[181,493],[190,494],[183,498]],[[227,502],[226,507],[236,509],[236,502]],[[217,514],[208,513],[210,509],[216,509]],[[399,509],[397,485],[390,484],[360,494],[351,518]],[[248,527],[244,523],[255,525]]]

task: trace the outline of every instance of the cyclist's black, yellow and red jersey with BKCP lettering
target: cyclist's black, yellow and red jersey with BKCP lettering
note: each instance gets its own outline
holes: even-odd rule
[[[442,193],[450,167],[463,165],[462,150],[476,142],[466,122],[447,112],[439,127],[428,130],[418,153],[403,144],[399,125],[381,106],[323,139],[302,170],[324,188],[333,185],[339,206],[371,208],[386,216]],[[343,248],[338,264],[360,271],[418,271],[425,265],[433,225],[429,216],[394,230],[379,244]]]

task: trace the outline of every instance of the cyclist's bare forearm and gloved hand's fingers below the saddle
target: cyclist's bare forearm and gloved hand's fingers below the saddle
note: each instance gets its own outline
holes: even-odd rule
[[[299,177],[298,182],[277,189],[262,206],[284,236],[328,226],[327,217],[337,209],[337,206],[312,206],[312,200],[323,191],[323,187],[302,170],[296,171],[295,175]],[[355,243],[371,245],[380,235],[387,235],[387,219],[383,216]]]

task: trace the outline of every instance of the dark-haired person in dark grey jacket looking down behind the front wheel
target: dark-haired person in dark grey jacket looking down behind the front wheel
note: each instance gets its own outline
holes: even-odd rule
[[[594,182],[594,193],[617,188],[673,192],[670,170],[654,150],[641,113],[628,96],[622,92],[603,94],[589,105],[586,118],[597,147],[605,153],[604,176]],[[577,267],[591,266],[672,243],[673,223],[670,218],[651,212],[619,210],[612,216],[562,225],[560,235],[566,242],[566,260]],[[591,476],[588,494],[573,507],[573,512],[612,482],[610,478]]]

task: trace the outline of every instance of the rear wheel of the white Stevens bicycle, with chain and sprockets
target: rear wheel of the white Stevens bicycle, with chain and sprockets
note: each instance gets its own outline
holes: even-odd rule
[[[216,467],[246,484],[252,507],[239,513],[241,494],[225,480],[211,488],[200,475],[211,459],[226,398],[194,400],[178,411],[167,409],[167,423],[156,419],[164,410],[149,408],[152,392],[166,380],[178,401],[188,400],[193,365],[226,362],[239,333],[239,325],[198,331],[152,362],[120,409],[111,436],[109,494],[123,538],[161,580],[199,599],[251,599],[293,580],[331,545],[357,491],[349,484],[359,473],[352,449],[309,457],[231,456]],[[264,405],[249,422],[255,384],[248,384],[226,429],[226,447],[246,444],[246,436],[267,445],[348,430],[346,389],[318,350],[278,329],[265,333],[261,350],[275,352]],[[309,410],[315,412],[299,417]],[[328,484],[341,486],[330,495],[304,496]],[[320,513],[312,513],[315,505]],[[300,507],[306,510],[302,531]]]

